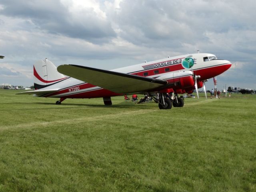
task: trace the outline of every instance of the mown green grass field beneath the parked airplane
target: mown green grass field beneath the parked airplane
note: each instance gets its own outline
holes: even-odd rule
[[[256,191],[256,95],[183,108],[0,90],[0,191]]]

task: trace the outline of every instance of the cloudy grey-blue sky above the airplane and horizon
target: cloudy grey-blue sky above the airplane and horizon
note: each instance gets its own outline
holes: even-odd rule
[[[200,50],[233,64],[218,89],[256,89],[255,8],[255,0],[1,0],[0,84],[32,86],[44,58],[114,69]]]

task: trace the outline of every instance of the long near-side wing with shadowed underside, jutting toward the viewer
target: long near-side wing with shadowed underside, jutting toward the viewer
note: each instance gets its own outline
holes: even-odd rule
[[[144,92],[168,84],[166,80],[78,65],[60,65],[57,70],[64,75],[88,82],[115,93]]]

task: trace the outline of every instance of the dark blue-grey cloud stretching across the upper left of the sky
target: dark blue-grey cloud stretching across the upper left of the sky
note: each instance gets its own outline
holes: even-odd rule
[[[41,30],[52,34],[63,34],[100,43],[116,36],[110,22],[97,17],[94,10],[84,8],[81,19],[74,18],[68,8],[59,1],[3,0],[0,14],[10,17],[30,19]],[[100,40],[98,40],[100,39]]]

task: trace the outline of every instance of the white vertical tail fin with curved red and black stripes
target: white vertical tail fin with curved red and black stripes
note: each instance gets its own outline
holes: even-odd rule
[[[66,78],[57,71],[56,66],[47,58],[34,64],[34,88],[36,90],[48,87]]]

